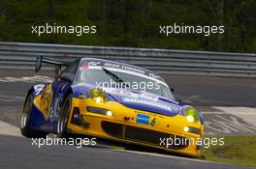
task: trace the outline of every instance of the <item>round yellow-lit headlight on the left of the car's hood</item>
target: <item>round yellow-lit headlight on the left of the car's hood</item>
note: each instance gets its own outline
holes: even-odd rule
[[[103,103],[107,102],[109,99],[109,96],[107,92],[100,88],[93,88],[90,90],[90,97],[97,103]]]

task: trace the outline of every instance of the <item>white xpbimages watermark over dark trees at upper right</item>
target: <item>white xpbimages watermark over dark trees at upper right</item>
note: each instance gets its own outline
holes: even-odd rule
[[[198,34],[204,35],[205,37],[211,36],[213,34],[223,34],[225,32],[224,25],[184,25],[174,24],[174,25],[160,25],[159,33],[166,37],[174,34]]]

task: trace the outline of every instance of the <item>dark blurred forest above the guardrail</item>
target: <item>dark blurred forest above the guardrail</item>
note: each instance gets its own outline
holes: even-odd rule
[[[32,25],[96,25],[96,35],[31,34]],[[224,25],[225,33],[159,34],[159,25]],[[0,41],[256,52],[255,0],[0,0]]]

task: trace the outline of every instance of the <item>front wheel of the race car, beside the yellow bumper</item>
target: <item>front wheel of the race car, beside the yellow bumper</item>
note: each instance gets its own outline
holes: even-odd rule
[[[71,114],[72,107],[72,95],[68,95],[64,99],[63,106],[60,110],[60,117],[57,123],[57,135],[60,138],[69,138],[72,137],[71,133],[68,132],[68,121]]]

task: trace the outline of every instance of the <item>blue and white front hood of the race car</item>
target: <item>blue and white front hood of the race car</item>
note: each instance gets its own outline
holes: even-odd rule
[[[135,92],[124,89],[104,89],[109,95],[126,107],[153,112],[166,116],[176,116],[178,102],[164,99],[147,92]]]

